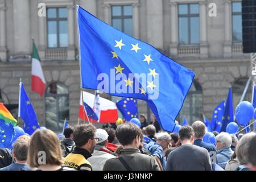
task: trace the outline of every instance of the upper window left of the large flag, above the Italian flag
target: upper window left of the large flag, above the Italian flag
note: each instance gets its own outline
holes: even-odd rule
[[[47,46],[68,47],[67,7],[47,9]]]

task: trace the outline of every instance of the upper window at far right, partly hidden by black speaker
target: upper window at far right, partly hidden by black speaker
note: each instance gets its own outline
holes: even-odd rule
[[[242,43],[242,3],[232,2],[232,40]]]

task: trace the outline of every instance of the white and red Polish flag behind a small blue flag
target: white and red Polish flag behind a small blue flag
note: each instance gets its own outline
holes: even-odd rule
[[[85,117],[85,121],[88,121],[89,118],[86,117],[85,110],[84,110],[84,113],[82,111],[82,93],[84,94],[83,95],[84,102],[88,104],[91,108],[95,108],[94,101],[96,101],[95,97],[97,96],[97,94],[94,95],[85,91],[81,92],[80,94],[79,118],[83,119]],[[101,97],[99,97],[99,101],[97,102],[100,103],[100,117],[99,117],[100,119],[99,121],[96,121],[94,119],[89,119],[89,121],[99,122],[99,123],[114,123],[115,121],[117,121],[117,118],[118,118],[117,106],[115,105],[114,102]]]

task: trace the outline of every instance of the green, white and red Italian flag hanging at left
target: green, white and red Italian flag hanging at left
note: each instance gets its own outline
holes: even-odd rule
[[[32,52],[32,68],[31,68],[31,90],[37,92],[42,97],[44,90],[46,89],[46,80],[44,80],[44,74],[40,63],[38,51],[33,40],[33,52]]]

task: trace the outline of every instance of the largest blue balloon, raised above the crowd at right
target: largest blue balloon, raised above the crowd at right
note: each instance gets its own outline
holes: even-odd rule
[[[235,113],[238,124],[245,126],[253,118],[253,105],[248,101],[242,101],[237,105]]]

